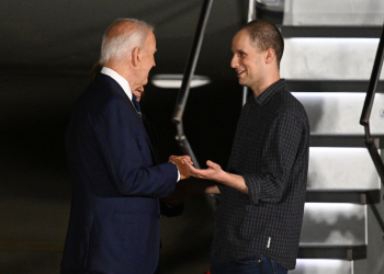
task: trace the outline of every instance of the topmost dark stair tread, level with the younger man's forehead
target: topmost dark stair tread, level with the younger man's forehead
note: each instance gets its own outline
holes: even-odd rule
[[[282,25],[283,37],[316,38],[380,38],[383,26],[293,26]]]

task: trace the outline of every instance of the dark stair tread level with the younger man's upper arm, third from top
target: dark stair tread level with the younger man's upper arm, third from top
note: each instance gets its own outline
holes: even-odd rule
[[[384,148],[384,136],[372,136],[377,149]],[[310,147],[366,148],[362,135],[310,135]]]

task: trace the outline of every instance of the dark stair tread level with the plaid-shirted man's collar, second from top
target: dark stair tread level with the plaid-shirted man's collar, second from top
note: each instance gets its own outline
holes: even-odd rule
[[[366,92],[368,80],[294,80],[286,79],[290,91],[304,92]],[[384,92],[384,81],[377,83],[377,93]]]

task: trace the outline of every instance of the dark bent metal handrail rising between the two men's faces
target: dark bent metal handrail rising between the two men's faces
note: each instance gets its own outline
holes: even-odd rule
[[[197,162],[197,160],[192,151],[192,148],[191,148],[185,135],[184,135],[183,124],[182,124],[182,115],[184,113],[187,99],[188,99],[188,95],[190,92],[191,79],[193,77],[194,69],[195,69],[196,64],[197,64],[200,48],[201,48],[201,45],[203,43],[203,36],[204,36],[206,23],[208,21],[212,2],[213,2],[213,0],[205,0],[203,3],[202,11],[201,11],[200,19],[199,19],[199,23],[197,23],[196,33],[194,35],[194,41],[193,41],[190,58],[189,58],[188,64],[187,64],[184,77],[183,77],[183,80],[181,83],[181,88],[180,88],[180,91],[178,94],[178,99],[177,99],[177,103],[176,103],[174,112],[173,112],[173,116],[172,116],[172,122],[173,122],[173,124],[177,125],[177,130],[178,130],[178,135],[176,136],[176,139],[179,142],[179,146],[180,146],[182,152],[184,155],[189,155],[191,157],[194,167],[196,167],[197,169],[200,168],[199,162]]]

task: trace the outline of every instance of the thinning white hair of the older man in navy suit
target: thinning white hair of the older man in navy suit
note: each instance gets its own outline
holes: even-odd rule
[[[117,35],[109,37],[110,30],[116,24],[131,23],[135,27],[132,31],[125,31]],[[99,59],[100,65],[104,65],[111,59],[121,60],[126,53],[131,52],[135,47],[143,47],[148,34],[154,31],[154,27],[144,21],[136,19],[117,19],[105,31],[103,41],[101,44],[101,55]]]

